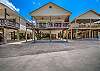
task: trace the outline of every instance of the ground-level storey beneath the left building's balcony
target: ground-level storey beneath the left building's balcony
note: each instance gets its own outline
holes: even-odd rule
[[[27,39],[31,38],[32,32],[27,32]],[[19,40],[26,40],[26,31],[0,27],[0,44]]]

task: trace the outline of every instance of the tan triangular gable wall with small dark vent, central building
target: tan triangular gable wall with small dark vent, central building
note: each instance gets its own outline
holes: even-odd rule
[[[49,6],[52,6],[52,8],[49,8]],[[57,16],[57,15],[70,15],[70,13],[64,11],[63,8],[60,8],[55,4],[48,3],[47,5],[43,6],[39,10],[33,12],[31,15],[32,16],[49,16],[49,15]]]

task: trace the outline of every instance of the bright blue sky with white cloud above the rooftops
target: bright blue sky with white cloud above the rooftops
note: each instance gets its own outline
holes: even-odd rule
[[[48,2],[53,2],[66,10],[72,12],[70,20],[85,13],[88,10],[95,10],[100,13],[100,0],[0,0],[9,7],[18,11],[26,19],[31,20],[29,12],[43,6]]]

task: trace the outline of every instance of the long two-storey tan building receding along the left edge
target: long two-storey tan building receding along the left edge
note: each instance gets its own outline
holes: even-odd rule
[[[0,3],[0,43],[26,39],[26,29],[28,29],[27,35],[30,37],[32,30],[27,28],[27,24],[31,23],[20,16],[15,10]]]

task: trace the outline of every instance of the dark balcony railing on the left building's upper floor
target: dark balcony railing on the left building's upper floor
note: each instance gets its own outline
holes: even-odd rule
[[[0,26],[19,29],[20,24],[12,21],[11,19],[0,19]]]

